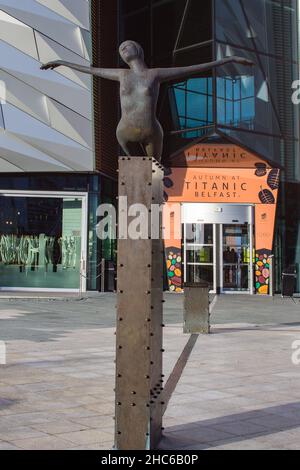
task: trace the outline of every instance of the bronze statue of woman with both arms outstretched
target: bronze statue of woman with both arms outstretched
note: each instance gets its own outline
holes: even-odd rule
[[[163,130],[156,117],[160,84],[171,80],[187,79],[197,73],[228,63],[251,66],[253,63],[241,57],[228,57],[223,60],[189,67],[149,69],[144,61],[144,51],[135,41],[121,44],[120,56],[129,69],[104,69],[56,60],[42,65],[42,70],[69,67],[79,72],[114,80],[120,83],[122,117],[117,127],[117,139],[128,156],[137,156],[137,146],[142,146],[145,154],[160,161],[163,148]]]

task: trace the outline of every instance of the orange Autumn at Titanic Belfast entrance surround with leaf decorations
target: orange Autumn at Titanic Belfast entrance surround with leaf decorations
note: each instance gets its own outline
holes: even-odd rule
[[[229,148],[227,149],[226,164],[223,160],[225,157],[221,155],[222,166],[225,168],[218,167],[220,148],[219,157],[214,153],[214,146],[201,146],[198,154],[197,147],[186,151],[186,167],[175,167],[166,172],[165,198],[170,204],[176,202],[255,204],[256,290],[259,294],[267,294],[280,170],[269,168],[255,155],[242,153],[238,147],[230,148],[231,152]],[[189,162],[191,163],[193,159],[191,167]],[[205,162],[203,167],[201,162]],[[213,168],[205,167],[206,164],[213,166],[212,162],[215,165]],[[182,287],[180,242],[174,238],[166,240],[165,243],[170,289],[180,292]]]

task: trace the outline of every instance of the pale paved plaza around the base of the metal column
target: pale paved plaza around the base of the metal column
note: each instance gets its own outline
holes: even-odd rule
[[[34,296],[33,296],[34,297]],[[166,294],[164,368],[188,336]],[[111,449],[116,297],[0,297],[0,449]],[[300,449],[300,303],[224,295],[164,418],[163,449]]]

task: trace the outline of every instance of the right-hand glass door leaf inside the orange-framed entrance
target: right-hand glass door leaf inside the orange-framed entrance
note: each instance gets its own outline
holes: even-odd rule
[[[251,225],[221,225],[221,292],[250,292],[252,285]]]

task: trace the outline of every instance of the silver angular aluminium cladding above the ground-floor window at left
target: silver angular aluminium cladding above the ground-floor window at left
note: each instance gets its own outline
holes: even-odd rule
[[[91,77],[40,70],[55,59],[90,64],[89,9],[88,0],[0,0],[0,172],[94,170]]]

